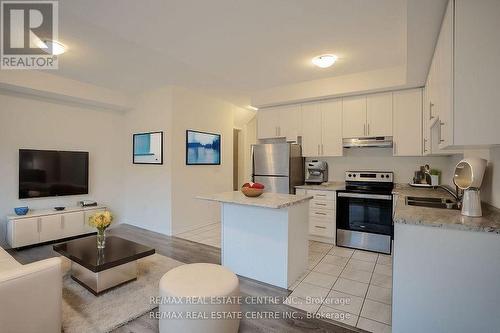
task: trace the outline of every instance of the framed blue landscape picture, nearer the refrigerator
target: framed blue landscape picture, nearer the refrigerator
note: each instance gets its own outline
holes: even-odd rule
[[[221,135],[186,131],[187,165],[220,165]]]

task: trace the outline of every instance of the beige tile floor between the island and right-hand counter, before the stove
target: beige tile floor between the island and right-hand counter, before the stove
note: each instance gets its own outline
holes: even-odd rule
[[[369,332],[391,332],[391,256],[310,241],[309,270],[290,289],[290,306]]]

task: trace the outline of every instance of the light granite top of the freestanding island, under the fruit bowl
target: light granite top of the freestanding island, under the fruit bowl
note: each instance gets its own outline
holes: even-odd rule
[[[240,191],[223,192],[216,194],[200,195],[196,199],[218,201],[222,203],[232,203],[237,205],[256,206],[263,208],[281,209],[290,207],[313,197],[310,195],[294,195],[282,193],[263,193],[259,197],[249,198]]]

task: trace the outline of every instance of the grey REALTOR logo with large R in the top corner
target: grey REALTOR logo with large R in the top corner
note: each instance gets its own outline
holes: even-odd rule
[[[58,2],[0,3],[1,69],[57,69],[52,41],[58,40]]]

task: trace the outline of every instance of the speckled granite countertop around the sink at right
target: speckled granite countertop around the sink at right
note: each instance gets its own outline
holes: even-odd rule
[[[407,196],[452,198],[443,189],[397,185],[393,194],[396,201],[394,223],[500,234],[500,209],[488,204],[483,203],[482,217],[468,217],[463,216],[460,210],[407,206],[405,203]]]

